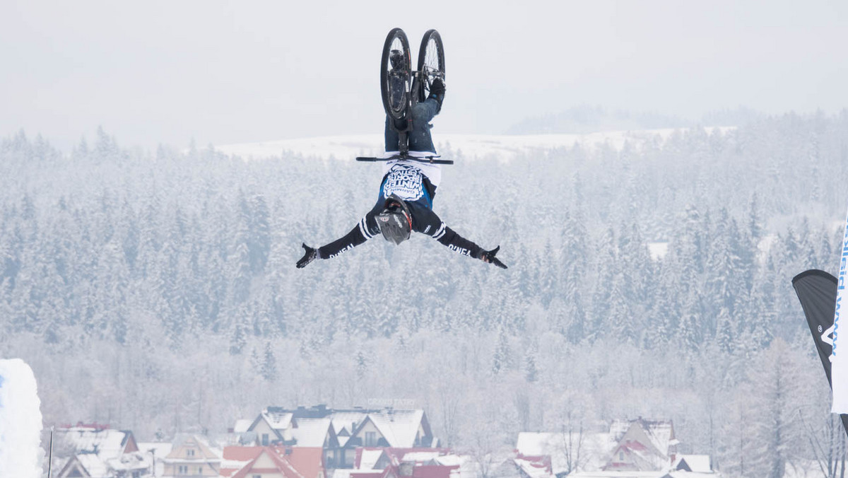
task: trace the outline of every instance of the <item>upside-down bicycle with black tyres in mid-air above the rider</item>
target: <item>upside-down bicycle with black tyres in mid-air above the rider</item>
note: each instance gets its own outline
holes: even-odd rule
[[[388,32],[380,59],[380,93],[389,127],[398,133],[398,155],[388,158],[358,157],[358,161],[415,160],[433,164],[454,164],[438,156],[411,156],[409,133],[412,131],[412,107],[427,99],[432,81],[444,81],[444,45],[436,30],[428,30],[418,49],[418,69],[412,70],[410,42],[400,28]]]

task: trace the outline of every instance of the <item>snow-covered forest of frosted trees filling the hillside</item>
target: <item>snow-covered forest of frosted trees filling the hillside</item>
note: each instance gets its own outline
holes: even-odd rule
[[[376,200],[352,159],[3,139],[0,357],[31,364],[46,423],[142,439],[403,398],[477,453],[657,417],[683,452],[763,476],[839,426],[790,279],[838,266],[848,111],[440,153],[434,210],[508,270],[424,236],[295,269]]]

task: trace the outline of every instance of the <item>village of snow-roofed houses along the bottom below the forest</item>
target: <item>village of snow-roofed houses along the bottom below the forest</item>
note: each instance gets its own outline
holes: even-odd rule
[[[522,432],[508,456],[442,447],[421,409],[269,407],[226,434],[137,441],[131,430],[56,430],[59,478],[707,478],[670,420],[618,419],[600,433]],[[59,456],[62,450],[64,456]],[[66,454],[65,454],[66,453]]]

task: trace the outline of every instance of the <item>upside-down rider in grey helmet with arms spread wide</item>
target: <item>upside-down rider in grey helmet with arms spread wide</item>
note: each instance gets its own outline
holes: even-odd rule
[[[433,156],[430,136],[430,121],[442,110],[444,101],[444,82],[440,78],[433,80],[430,94],[423,103],[412,107],[412,129],[409,135],[410,156]],[[390,127],[386,116],[386,154],[399,153],[399,135]],[[403,120],[405,121],[405,120]],[[463,238],[432,211],[432,199],[442,178],[440,165],[415,160],[389,160],[384,166],[384,176],[380,184],[380,196],[377,204],[365,214],[359,224],[342,238],[313,249],[303,245],[305,253],[297,263],[298,269],[306,267],[317,258],[331,259],[366,240],[382,233],[389,242],[399,245],[410,239],[412,231],[427,234],[442,245],[463,256],[471,256],[495,266],[506,268],[495,256],[500,246],[493,250],[483,250],[479,245]]]

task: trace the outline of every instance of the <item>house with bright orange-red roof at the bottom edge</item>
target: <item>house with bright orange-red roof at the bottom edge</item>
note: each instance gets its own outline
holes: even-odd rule
[[[325,478],[321,447],[225,447],[223,478]]]

